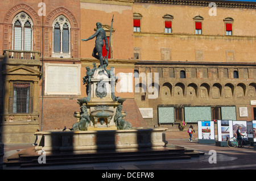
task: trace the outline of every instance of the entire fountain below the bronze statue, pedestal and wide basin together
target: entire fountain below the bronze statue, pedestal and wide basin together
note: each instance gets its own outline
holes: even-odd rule
[[[38,134],[36,151],[86,152],[99,150],[127,151],[138,149],[163,149],[166,128],[132,128],[125,121],[122,111],[125,99],[114,95],[117,80],[112,69],[86,67],[84,83],[88,86],[88,96],[79,99],[81,112],[75,112],[77,121],[73,130],[42,131]]]

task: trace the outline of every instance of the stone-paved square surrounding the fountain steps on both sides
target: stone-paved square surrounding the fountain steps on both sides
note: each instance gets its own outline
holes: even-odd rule
[[[36,167],[37,170],[249,170],[256,169],[256,150],[253,148],[229,148],[228,146],[216,146],[215,144],[199,144],[197,136],[192,142],[188,141],[188,133],[186,131],[167,131],[166,140],[168,145],[183,146],[196,151],[204,152],[200,157],[192,157],[191,159],[177,159],[166,161],[138,161],[138,162],[114,162],[114,163],[92,163],[84,165],[64,165],[64,166],[43,166]],[[25,149],[31,145],[23,146],[5,146],[5,154],[11,155],[16,150]],[[214,155],[209,153],[216,151],[216,159]],[[5,157],[7,156],[5,155]],[[216,163],[214,163],[216,161]],[[3,169],[20,169],[12,167]],[[35,168],[26,168],[35,169]]]

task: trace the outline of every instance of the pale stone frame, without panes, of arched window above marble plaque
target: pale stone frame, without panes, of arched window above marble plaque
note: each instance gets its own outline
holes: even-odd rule
[[[56,23],[60,26],[60,52],[54,52],[54,31]],[[63,27],[65,24],[68,25],[68,53],[63,53]],[[71,58],[71,24],[64,15],[57,16],[52,23],[52,57]]]

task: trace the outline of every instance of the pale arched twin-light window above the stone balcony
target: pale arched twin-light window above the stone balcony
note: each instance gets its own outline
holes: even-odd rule
[[[20,12],[13,19],[13,50],[33,50],[33,22],[26,12]]]

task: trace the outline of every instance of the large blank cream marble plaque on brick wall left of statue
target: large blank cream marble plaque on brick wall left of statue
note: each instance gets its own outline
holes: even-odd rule
[[[44,95],[80,95],[80,64],[46,63]]]

